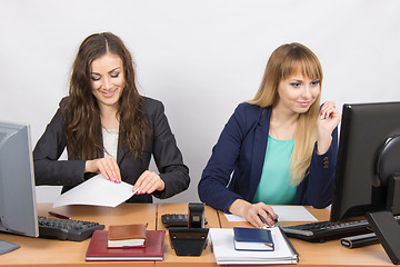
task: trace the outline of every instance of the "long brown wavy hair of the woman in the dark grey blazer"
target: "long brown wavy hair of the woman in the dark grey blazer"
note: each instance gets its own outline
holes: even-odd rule
[[[142,110],[143,98],[136,86],[132,56],[122,40],[111,32],[94,33],[80,44],[72,65],[69,98],[63,109],[67,150],[74,159],[101,157],[104,147],[101,138],[100,110],[90,85],[90,67],[93,60],[113,53],[121,58],[126,86],[119,99],[117,117],[120,120],[120,139],[134,157],[141,155],[148,129]]]

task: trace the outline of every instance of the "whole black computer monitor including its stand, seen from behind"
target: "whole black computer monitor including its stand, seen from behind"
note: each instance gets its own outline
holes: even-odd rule
[[[399,194],[400,102],[343,105],[330,220],[366,215],[394,263],[383,239],[389,224],[399,260],[400,226],[393,218],[400,214]]]

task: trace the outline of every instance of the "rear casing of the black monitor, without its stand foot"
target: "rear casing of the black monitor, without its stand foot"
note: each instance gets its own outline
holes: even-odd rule
[[[388,209],[388,184],[382,180],[387,177],[379,165],[389,164],[387,171],[400,172],[400,160],[392,151],[383,152],[389,158],[381,157],[388,141],[399,135],[400,102],[343,105],[331,221]],[[396,155],[399,146],[391,144]]]

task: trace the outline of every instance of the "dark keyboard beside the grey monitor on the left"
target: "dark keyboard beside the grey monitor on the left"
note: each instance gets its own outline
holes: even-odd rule
[[[60,240],[82,241],[94,230],[104,229],[103,225],[74,219],[56,219],[38,216],[39,237]]]

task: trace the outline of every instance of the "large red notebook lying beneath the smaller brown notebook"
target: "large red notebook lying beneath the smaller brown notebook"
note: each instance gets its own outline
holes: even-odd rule
[[[86,260],[163,260],[164,230],[148,230],[146,247],[107,248],[108,230],[96,230]]]

